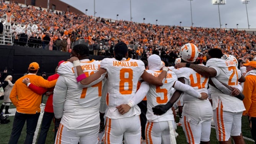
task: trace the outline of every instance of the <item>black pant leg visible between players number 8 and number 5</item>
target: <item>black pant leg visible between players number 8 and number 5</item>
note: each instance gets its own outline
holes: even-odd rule
[[[141,114],[139,116],[140,123],[141,123],[141,137],[142,139],[146,139],[145,137],[145,127],[147,123],[146,113],[147,113],[147,101],[143,100],[140,103],[138,103],[138,106],[141,110]]]

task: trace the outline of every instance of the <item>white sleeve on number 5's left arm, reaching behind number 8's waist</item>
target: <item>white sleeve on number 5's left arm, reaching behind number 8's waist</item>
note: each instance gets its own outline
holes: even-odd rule
[[[138,91],[135,93],[133,98],[129,101],[129,103],[132,105],[129,105],[131,107],[137,105],[139,102],[143,100],[143,98],[146,96],[146,94],[149,91],[149,84],[147,82],[142,82]]]

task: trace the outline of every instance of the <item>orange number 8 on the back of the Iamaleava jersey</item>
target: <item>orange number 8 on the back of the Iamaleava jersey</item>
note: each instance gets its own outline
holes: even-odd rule
[[[126,85],[125,85],[126,84]],[[125,86],[128,89],[125,89]],[[119,91],[122,95],[129,95],[133,92],[133,70],[132,69],[121,69],[120,70],[120,82]]]

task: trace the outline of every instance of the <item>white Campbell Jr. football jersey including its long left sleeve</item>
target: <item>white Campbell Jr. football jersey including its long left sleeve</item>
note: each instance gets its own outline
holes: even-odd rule
[[[99,61],[80,61],[87,77],[100,68]],[[82,129],[100,123],[99,107],[105,79],[92,87],[82,88],[77,83],[71,62],[62,63],[57,70],[59,79],[54,88],[54,115],[69,129]]]

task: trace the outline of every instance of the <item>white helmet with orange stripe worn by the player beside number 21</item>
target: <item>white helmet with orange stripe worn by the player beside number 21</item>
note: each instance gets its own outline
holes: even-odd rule
[[[186,62],[195,62],[199,55],[199,51],[195,44],[187,43],[181,47],[180,55]]]

